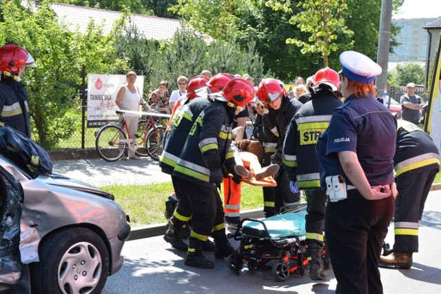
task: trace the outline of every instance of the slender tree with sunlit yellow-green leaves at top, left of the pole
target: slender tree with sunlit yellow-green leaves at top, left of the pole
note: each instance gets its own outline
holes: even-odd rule
[[[267,4],[275,10],[292,12],[291,1],[269,0]],[[336,52],[339,44],[337,33],[351,37],[353,32],[345,25],[343,14],[347,9],[345,0],[316,0],[298,1],[300,11],[291,16],[289,23],[300,28],[301,32],[309,35],[307,41],[300,38],[289,38],[287,43],[294,43],[302,48],[303,54],[318,53],[323,59],[325,66],[328,66],[328,57],[331,52]],[[348,44],[352,45],[352,42]]]

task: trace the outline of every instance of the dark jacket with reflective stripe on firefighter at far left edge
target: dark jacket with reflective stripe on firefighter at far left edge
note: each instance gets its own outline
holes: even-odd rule
[[[10,77],[0,79],[0,126],[10,126],[30,137],[28,92],[21,82]]]

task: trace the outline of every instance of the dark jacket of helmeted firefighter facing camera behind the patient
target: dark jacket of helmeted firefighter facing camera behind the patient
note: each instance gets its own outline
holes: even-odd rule
[[[288,97],[281,97],[282,105],[278,110],[268,108],[268,113],[263,115],[263,148],[265,149],[265,161],[267,153],[271,157],[274,153],[280,153],[280,161],[283,152],[283,141],[291,119],[297,110],[303,105],[298,100],[289,100]]]

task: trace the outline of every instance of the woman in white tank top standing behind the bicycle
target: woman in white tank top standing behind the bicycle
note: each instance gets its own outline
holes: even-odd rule
[[[139,105],[145,104],[145,101],[141,98],[141,94],[139,93],[138,88],[135,86],[136,73],[132,71],[127,72],[125,77],[127,77],[126,82],[123,86],[121,86],[118,94],[116,95],[116,105],[121,110],[139,111]],[[130,138],[134,139],[134,136],[136,135],[136,130],[138,130],[139,115],[134,113],[125,113],[124,117],[129,128]],[[128,158],[136,160],[140,159],[134,154],[134,151],[130,149]],[[127,160],[127,156],[123,155],[121,159]]]

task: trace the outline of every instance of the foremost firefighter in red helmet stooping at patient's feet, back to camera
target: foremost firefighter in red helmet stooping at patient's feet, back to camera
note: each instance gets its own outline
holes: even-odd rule
[[[232,79],[220,91],[213,104],[205,108],[193,124],[174,168],[175,184],[183,187],[192,208],[192,231],[188,237],[187,266],[214,268],[205,258],[202,245],[211,235],[214,256],[222,259],[234,252],[225,235],[223,203],[217,187],[223,182],[224,168],[235,182],[231,147],[234,115],[254,96],[254,88],[245,79]]]

